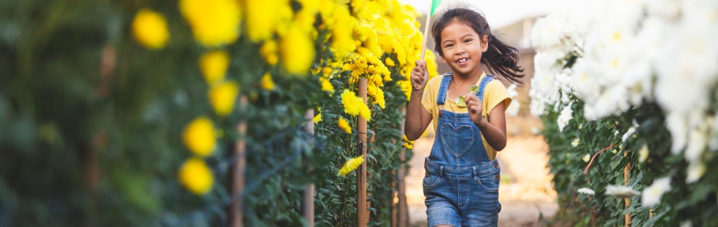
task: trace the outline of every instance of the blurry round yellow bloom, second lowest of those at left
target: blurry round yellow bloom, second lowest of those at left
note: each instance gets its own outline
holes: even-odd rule
[[[217,139],[215,127],[207,117],[197,117],[185,127],[182,135],[185,146],[201,157],[207,157],[215,151]]]

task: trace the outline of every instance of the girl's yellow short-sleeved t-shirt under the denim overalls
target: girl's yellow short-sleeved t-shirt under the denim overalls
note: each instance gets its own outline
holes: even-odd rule
[[[442,84],[442,77],[444,76],[439,75],[438,77],[434,77],[429,80],[429,83],[426,84],[426,88],[424,88],[424,95],[421,99],[421,105],[424,105],[424,109],[432,113],[434,131],[437,130],[437,125],[439,124],[437,96],[439,95],[439,87],[441,87]],[[476,81],[477,86],[480,86],[481,80],[484,79],[484,77],[486,77],[486,74],[482,73],[481,77]],[[447,91],[446,100],[444,101],[444,110],[455,113],[469,112],[467,107],[460,107],[456,105],[456,101],[454,101],[456,98],[457,97],[449,97],[449,92]],[[508,92],[506,91],[506,87],[503,86],[503,83],[501,83],[498,79],[493,79],[491,82],[486,84],[486,87],[484,88],[484,99],[482,102],[483,110],[481,115],[486,116],[486,120],[490,121],[488,113],[490,113],[491,110],[493,110],[493,108],[501,102],[504,102],[504,110],[508,109],[508,106],[511,105],[511,98],[508,97]],[[481,139],[484,143],[484,148],[486,148],[486,155],[489,157],[489,160],[494,160],[496,158],[496,150],[486,142],[483,133],[481,134]]]

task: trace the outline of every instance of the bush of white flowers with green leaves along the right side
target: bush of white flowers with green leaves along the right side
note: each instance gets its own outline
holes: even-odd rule
[[[536,21],[531,112],[544,120],[567,217],[718,223],[718,178],[705,174],[718,162],[717,11],[714,1],[615,0]]]

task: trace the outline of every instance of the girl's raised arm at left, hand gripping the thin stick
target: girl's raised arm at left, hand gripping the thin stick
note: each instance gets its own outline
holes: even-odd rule
[[[424,88],[428,82],[429,72],[426,70],[426,62],[416,61],[416,67],[411,70],[411,97],[404,119],[404,134],[409,140],[418,139],[432,121],[432,113],[421,106],[421,96],[424,95]]]

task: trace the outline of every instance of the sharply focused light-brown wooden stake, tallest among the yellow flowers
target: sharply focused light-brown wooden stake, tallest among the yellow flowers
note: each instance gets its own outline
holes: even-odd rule
[[[366,103],[366,79],[359,79],[359,97]],[[366,203],[366,119],[359,116],[357,120],[357,153],[364,155],[364,162],[357,171],[357,226],[365,227],[367,221]]]

